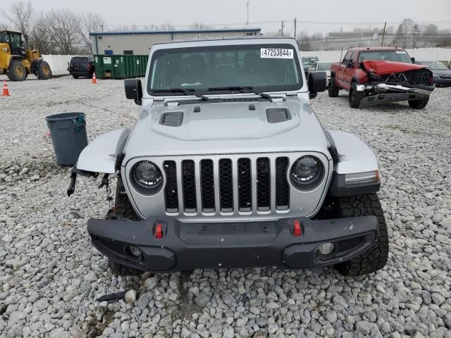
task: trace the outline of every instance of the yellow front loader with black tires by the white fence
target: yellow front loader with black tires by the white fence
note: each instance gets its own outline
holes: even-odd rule
[[[49,63],[42,60],[39,51],[23,47],[22,33],[11,30],[0,31],[0,74],[8,75],[11,81],[23,81],[28,74],[38,79],[51,77]]]

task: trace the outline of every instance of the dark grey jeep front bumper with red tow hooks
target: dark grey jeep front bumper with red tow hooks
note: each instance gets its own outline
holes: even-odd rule
[[[300,225],[299,236],[295,235],[295,224]],[[156,238],[158,228],[162,238]],[[264,266],[299,269],[340,263],[366,251],[376,241],[378,220],[375,216],[235,223],[181,223],[170,218],[91,219],[87,230],[101,253],[139,270],[172,273]],[[321,256],[318,248],[324,242],[332,242],[335,249]],[[133,256],[130,246],[140,249],[141,256]]]

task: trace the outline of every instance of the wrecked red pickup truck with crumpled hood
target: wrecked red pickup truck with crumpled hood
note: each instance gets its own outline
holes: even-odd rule
[[[330,65],[329,96],[345,89],[352,108],[408,101],[411,108],[422,109],[435,88],[433,74],[414,61],[396,47],[349,49],[342,62]]]

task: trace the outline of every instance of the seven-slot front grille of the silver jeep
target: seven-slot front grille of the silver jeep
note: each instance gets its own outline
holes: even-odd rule
[[[203,158],[164,161],[163,165],[168,213],[178,213],[180,208],[185,213],[252,213],[290,208],[287,157]],[[177,165],[181,165],[180,173]],[[275,194],[273,206],[271,194]]]

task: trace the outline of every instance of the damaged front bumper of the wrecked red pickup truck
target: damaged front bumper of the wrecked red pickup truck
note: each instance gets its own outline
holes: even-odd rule
[[[377,106],[379,104],[388,104],[390,102],[421,100],[426,99],[431,93],[434,86],[405,87],[401,84],[357,84],[357,92],[362,93],[362,99],[359,108]],[[364,96],[364,92],[371,93]]]

